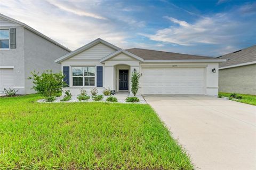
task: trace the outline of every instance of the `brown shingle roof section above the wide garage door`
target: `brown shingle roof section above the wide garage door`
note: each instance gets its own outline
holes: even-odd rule
[[[133,53],[145,60],[214,60],[210,56],[199,56],[199,55],[189,55],[189,54],[180,54],[172,53],[165,51],[156,51],[156,50],[147,50],[142,48],[130,48],[126,51]]]

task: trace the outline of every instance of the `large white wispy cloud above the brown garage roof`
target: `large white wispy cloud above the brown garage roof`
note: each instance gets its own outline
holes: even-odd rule
[[[156,31],[156,34],[145,35],[153,41],[173,43],[179,45],[221,44],[233,41],[235,35],[229,34],[239,24],[229,20],[226,14],[216,14],[213,17],[199,18],[195,23],[189,24],[172,17],[165,17],[178,26],[171,26]]]

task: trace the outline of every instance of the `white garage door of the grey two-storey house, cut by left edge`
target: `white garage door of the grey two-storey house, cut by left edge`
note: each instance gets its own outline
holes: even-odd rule
[[[13,69],[0,69],[0,94],[4,88],[13,88]]]

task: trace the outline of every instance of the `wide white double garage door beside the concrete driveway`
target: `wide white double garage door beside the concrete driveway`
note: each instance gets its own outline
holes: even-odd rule
[[[204,94],[204,68],[142,68],[142,94]]]

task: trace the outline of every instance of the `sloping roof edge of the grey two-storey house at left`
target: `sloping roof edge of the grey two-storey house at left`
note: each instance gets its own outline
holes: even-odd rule
[[[13,23],[17,23],[18,25],[21,25],[21,26],[25,27],[26,29],[28,29],[28,30],[30,30],[31,32],[35,33],[36,35],[38,35],[38,36],[40,36],[40,37],[46,39],[47,41],[50,41],[51,43],[53,43],[53,44],[55,44],[55,45],[58,45],[59,47],[63,48],[64,50],[67,50],[68,52],[71,52],[71,50],[69,50],[67,47],[65,47],[65,46],[63,46],[63,45],[61,45],[61,44],[59,44],[58,42],[55,42],[53,39],[51,39],[51,38],[49,38],[49,37],[43,35],[42,33],[39,33],[39,31],[35,30],[34,28],[29,27],[29,26],[26,25],[25,23],[22,23],[22,22],[20,22],[20,21],[14,20],[13,18],[7,17],[6,15],[1,14],[1,13],[0,13],[0,17],[1,17],[1,18],[4,18],[4,19],[6,19],[6,20],[9,20],[9,21],[11,21],[11,22],[13,22]]]

